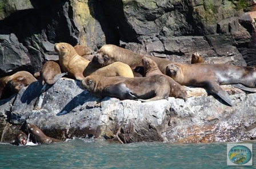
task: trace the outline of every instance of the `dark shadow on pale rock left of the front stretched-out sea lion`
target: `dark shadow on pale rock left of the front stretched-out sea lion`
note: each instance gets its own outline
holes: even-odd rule
[[[72,110],[74,108],[76,108],[79,105],[83,105],[85,104],[85,102],[90,102],[93,101],[95,102],[97,99],[95,99],[96,97],[92,97],[90,93],[88,92],[82,92],[80,94],[78,94],[77,96],[75,96],[62,110],[61,112],[59,112],[58,114],[56,114],[57,116],[61,116],[67,113],[72,112]]]

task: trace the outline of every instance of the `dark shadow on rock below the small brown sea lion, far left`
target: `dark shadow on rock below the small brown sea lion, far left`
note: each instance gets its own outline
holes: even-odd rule
[[[31,83],[22,94],[21,102],[30,104],[31,101],[40,95],[42,87],[43,85],[39,81]]]

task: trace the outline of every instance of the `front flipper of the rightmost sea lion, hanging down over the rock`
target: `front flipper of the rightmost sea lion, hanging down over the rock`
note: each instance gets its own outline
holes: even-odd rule
[[[226,101],[227,104],[229,104],[230,106],[233,105],[230,100],[229,93],[223,90],[221,86],[219,86],[219,84],[211,82],[207,85],[207,88],[210,93],[217,94],[219,97],[222,98],[222,100]]]

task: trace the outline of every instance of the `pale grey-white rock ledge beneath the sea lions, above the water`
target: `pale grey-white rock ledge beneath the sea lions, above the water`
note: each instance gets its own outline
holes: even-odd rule
[[[242,141],[255,138],[256,95],[223,86],[234,106],[206,92],[186,102],[169,97],[142,103],[93,97],[78,81],[60,79],[44,94],[35,82],[17,96],[0,102],[1,141],[11,142],[25,122],[46,135],[66,139],[95,137],[121,143],[165,141],[177,143]],[[198,89],[187,88],[194,92]],[[9,123],[2,123],[2,121]],[[16,126],[15,128],[11,128]],[[13,135],[10,135],[13,132]]]

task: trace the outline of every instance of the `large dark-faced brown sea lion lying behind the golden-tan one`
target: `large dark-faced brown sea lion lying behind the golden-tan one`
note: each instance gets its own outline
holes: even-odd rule
[[[128,64],[131,69],[134,69],[135,67],[143,67],[141,63],[143,56],[146,55],[141,55],[133,51],[126,50],[125,48],[115,46],[113,44],[105,44],[95,54],[92,62],[96,67],[104,67],[106,65],[114,63],[115,61],[121,61],[122,63]],[[162,59],[155,56],[146,57],[154,60],[163,74],[165,74],[167,65],[173,63],[170,60]]]

